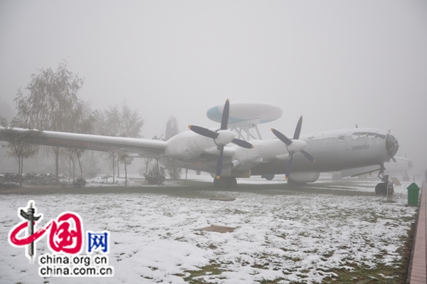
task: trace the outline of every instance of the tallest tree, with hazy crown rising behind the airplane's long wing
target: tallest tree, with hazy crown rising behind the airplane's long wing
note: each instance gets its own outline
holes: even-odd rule
[[[38,75],[31,75],[31,83],[24,96],[21,90],[16,95],[18,119],[23,127],[38,130],[78,132],[82,125],[93,124],[93,117],[86,117],[88,107],[78,98],[84,79],[74,75],[67,68],[66,61],[56,71],[41,69]],[[58,158],[60,147],[52,147],[55,153],[56,182],[58,183]]]

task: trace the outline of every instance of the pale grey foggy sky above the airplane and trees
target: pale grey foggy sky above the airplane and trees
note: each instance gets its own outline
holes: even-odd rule
[[[398,155],[427,167],[427,1],[0,1],[0,112],[31,74],[64,59],[93,109],[127,101],[164,133],[174,115],[263,101],[292,135],[391,130]],[[1,113],[0,113],[1,115]]]

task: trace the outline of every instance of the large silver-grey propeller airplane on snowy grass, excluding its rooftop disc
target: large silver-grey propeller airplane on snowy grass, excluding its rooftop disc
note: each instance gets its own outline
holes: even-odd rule
[[[393,159],[399,148],[396,138],[388,132],[357,128],[300,137],[300,117],[292,139],[272,129],[278,139],[245,141],[228,130],[229,101],[218,109],[220,128],[189,125],[191,131],[177,133],[167,141],[43,131],[43,141],[39,144],[98,151],[118,149],[160,157],[164,162],[173,161],[176,167],[209,172],[214,177],[214,186],[228,188],[237,185],[237,177],[251,175],[268,178],[285,174],[289,184],[306,184],[315,182],[320,172],[357,175],[379,170],[382,182],[377,184],[376,193],[386,193],[384,163]],[[174,120],[168,123],[176,124]],[[0,141],[6,141],[1,130],[0,127]]]

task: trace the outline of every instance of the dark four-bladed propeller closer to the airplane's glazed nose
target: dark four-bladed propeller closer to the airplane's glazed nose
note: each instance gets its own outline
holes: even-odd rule
[[[300,133],[301,133],[301,127],[302,127],[302,115],[300,117],[300,120],[298,120],[297,127],[295,128],[293,139],[289,139],[283,133],[279,132],[278,130],[275,130],[274,128],[271,129],[275,137],[278,137],[280,141],[286,144],[286,149],[288,149],[288,152],[290,154],[290,159],[288,162],[288,167],[286,167],[285,172],[285,178],[288,179],[290,170],[292,169],[292,159],[295,152],[301,152],[305,158],[307,158],[310,162],[315,162],[315,158],[312,157],[311,154],[306,152],[304,148],[307,146],[307,143],[305,141],[300,140]]]

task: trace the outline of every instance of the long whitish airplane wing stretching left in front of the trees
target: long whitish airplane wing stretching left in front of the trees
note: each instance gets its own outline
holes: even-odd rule
[[[16,133],[28,130],[14,128]],[[4,127],[0,127],[0,141],[7,141]],[[122,150],[146,157],[162,156],[167,142],[162,140],[149,140],[129,137],[111,137],[102,135],[88,135],[69,132],[43,131],[41,141],[38,143],[46,146],[59,146],[67,148],[90,149],[96,151]]]

